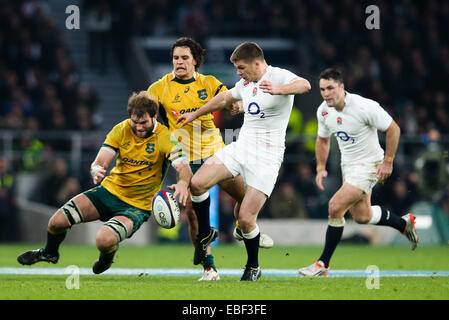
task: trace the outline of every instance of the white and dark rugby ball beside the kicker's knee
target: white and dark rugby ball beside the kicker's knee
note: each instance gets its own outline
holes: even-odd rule
[[[170,192],[161,190],[156,193],[151,207],[154,219],[162,228],[171,229],[179,223],[181,210]]]

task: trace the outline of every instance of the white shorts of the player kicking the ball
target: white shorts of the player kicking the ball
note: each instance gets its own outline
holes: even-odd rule
[[[245,184],[263,192],[268,197],[282,164],[282,156],[266,154],[262,150],[248,148],[244,144],[232,142],[214,153],[234,177],[240,175]]]

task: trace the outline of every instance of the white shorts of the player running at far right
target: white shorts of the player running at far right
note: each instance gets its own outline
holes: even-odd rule
[[[376,162],[357,162],[354,164],[342,164],[341,172],[343,183],[347,182],[354,187],[361,189],[366,194],[370,194],[376,185],[379,177],[377,169],[382,164],[381,161]]]

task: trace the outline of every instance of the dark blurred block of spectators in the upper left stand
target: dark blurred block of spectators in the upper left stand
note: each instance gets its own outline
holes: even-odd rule
[[[0,130],[94,130],[98,98],[45,1],[0,0]]]

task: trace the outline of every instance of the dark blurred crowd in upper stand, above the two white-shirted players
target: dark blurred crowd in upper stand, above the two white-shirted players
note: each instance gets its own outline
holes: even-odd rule
[[[348,90],[379,101],[404,133],[432,127],[449,133],[449,3],[431,1],[113,0],[113,34],[289,38],[296,71],[316,80],[326,67],[346,71]],[[129,5],[131,3],[131,5]],[[368,5],[379,8],[379,29],[368,29]],[[114,17],[116,17],[114,19]]]

